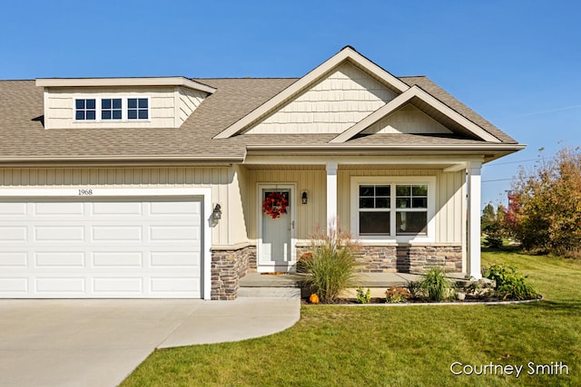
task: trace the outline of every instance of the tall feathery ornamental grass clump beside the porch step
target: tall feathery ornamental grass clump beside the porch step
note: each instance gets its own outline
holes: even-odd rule
[[[321,303],[333,303],[340,292],[352,285],[355,272],[354,254],[358,245],[349,234],[337,229],[317,231],[311,242],[312,256],[303,262],[307,285],[320,297]]]

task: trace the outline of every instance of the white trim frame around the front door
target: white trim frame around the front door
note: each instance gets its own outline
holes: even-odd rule
[[[262,189],[290,189],[291,190],[291,202],[290,208],[291,213],[291,260],[288,265],[284,266],[266,266],[261,265],[261,250],[262,250]],[[269,273],[273,271],[289,271],[292,266],[297,263],[297,254],[295,246],[297,244],[296,237],[296,207],[297,207],[297,185],[296,183],[285,183],[285,182],[260,182],[256,184],[257,191],[257,206],[256,206],[256,222],[257,222],[257,236],[256,236],[256,271],[259,273]]]

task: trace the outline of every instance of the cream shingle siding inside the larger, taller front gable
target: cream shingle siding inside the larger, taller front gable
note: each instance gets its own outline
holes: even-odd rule
[[[346,62],[247,133],[340,133],[396,93]]]

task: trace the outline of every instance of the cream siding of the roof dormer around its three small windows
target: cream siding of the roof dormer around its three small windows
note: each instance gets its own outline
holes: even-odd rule
[[[45,129],[179,128],[207,94],[183,87],[48,88],[44,91]],[[149,98],[150,119],[74,121],[75,99]],[[97,102],[98,103],[98,102]]]

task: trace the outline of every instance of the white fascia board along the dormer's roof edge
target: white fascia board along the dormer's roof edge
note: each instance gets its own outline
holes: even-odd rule
[[[185,77],[155,78],[37,78],[39,87],[125,87],[125,86],[183,86],[200,92],[214,93],[216,89]]]

